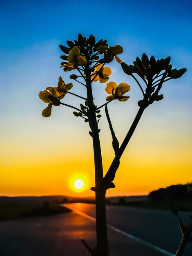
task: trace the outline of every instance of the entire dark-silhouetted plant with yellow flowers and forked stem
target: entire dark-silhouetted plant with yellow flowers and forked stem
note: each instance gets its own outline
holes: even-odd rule
[[[82,242],[92,256],[109,256],[105,193],[107,189],[115,187],[113,180],[120,164],[120,158],[144,110],[155,101],[161,101],[163,99],[163,94],[159,94],[163,83],[170,79],[181,77],[186,72],[186,69],[173,69],[170,64],[170,57],[156,60],[154,56],[148,58],[146,54],[143,54],[141,59],[137,57],[133,65],[127,65],[119,58],[119,55],[123,53],[123,47],[121,47],[121,45],[109,46],[107,40],[103,39],[96,42],[93,35],[90,35],[89,38],[85,38],[79,34],[77,40],[74,40],[74,42],[67,41],[67,45],[68,47],[60,45],[60,49],[65,54],[60,56],[64,61],[61,63],[61,67],[63,67],[65,72],[76,72],[76,74],[70,75],[70,79],[85,86],[87,95],[82,97],[70,92],[71,88],[73,88],[73,83],[65,84],[63,79],[59,77],[57,87],[48,87],[46,90],[39,93],[40,99],[48,103],[48,106],[42,110],[42,115],[43,117],[50,117],[53,106],[63,105],[76,110],[73,112],[74,115],[84,119],[90,127],[91,131],[89,131],[89,135],[92,137],[93,141],[95,168],[95,186],[92,187],[91,190],[95,192],[96,198],[97,245],[91,248],[84,239],[82,239]],[[121,146],[113,130],[107,106],[114,100],[120,102],[127,101],[129,99],[130,86],[125,82],[117,85],[116,82],[109,81],[112,71],[105,65],[114,60],[117,61],[117,65],[121,65],[125,74],[132,76],[136,81],[143,97],[138,101],[138,112]],[[144,85],[139,83],[135,75],[141,78]],[[109,95],[106,97],[106,102],[101,106],[96,106],[94,103],[92,87],[96,81],[107,83],[105,91]],[[81,98],[83,102],[80,104],[80,108],[61,102],[66,94],[72,94],[74,97]],[[104,106],[109,129],[112,134],[112,147],[115,154],[114,160],[105,177],[103,176],[103,163],[99,139],[100,129],[98,127],[101,118],[100,108]]]

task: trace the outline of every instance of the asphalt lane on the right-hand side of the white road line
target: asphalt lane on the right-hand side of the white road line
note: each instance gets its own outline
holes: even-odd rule
[[[68,206],[70,207],[69,204]],[[77,203],[71,206],[95,217],[93,204]],[[190,213],[180,212],[179,214],[183,222],[188,223]],[[176,216],[170,211],[108,205],[107,223],[172,254],[175,254],[182,238]],[[192,243],[188,243],[183,256],[192,256]]]

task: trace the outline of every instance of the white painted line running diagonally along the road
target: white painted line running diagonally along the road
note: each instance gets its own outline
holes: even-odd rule
[[[68,204],[66,205],[66,204],[65,204],[65,207],[71,209],[72,211],[78,213],[79,215],[81,215],[81,216],[83,216],[83,217],[85,217],[85,218],[87,218],[87,219],[89,219],[89,220],[92,220],[92,221],[96,222],[96,219],[95,219],[94,217],[89,216],[89,215],[87,215],[86,213],[83,213],[82,211],[77,210],[76,208],[72,207],[71,205],[68,205]],[[112,225],[107,224],[107,227],[109,227],[110,229],[112,229],[112,230],[114,230],[114,231],[116,231],[116,232],[118,232],[118,233],[120,233],[120,234],[122,234],[122,235],[124,235],[124,236],[127,236],[127,237],[129,237],[129,238],[131,238],[131,239],[133,239],[133,240],[136,240],[137,242],[139,242],[139,243],[141,243],[141,244],[143,244],[143,245],[146,245],[146,246],[148,246],[148,247],[150,247],[150,248],[153,248],[153,249],[155,249],[155,250],[161,252],[162,254],[164,254],[164,255],[166,255],[166,256],[174,256],[174,254],[172,254],[172,253],[170,253],[170,252],[167,252],[167,251],[161,249],[161,248],[158,247],[158,246],[152,245],[151,243],[148,243],[148,242],[146,242],[146,241],[144,241],[144,240],[142,240],[142,239],[140,239],[140,238],[138,238],[138,237],[136,237],[136,236],[132,236],[131,234],[129,234],[129,233],[127,233],[127,232],[124,232],[124,231],[121,230],[121,229],[117,229],[116,227],[114,227],[114,226],[112,226]]]

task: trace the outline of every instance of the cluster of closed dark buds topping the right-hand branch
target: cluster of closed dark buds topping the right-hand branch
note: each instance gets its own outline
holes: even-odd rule
[[[145,82],[145,92],[140,83],[138,83],[143,93],[143,100],[138,101],[138,106],[146,108],[154,101],[163,99],[163,94],[159,94],[163,83],[170,79],[177,79],[186,72],[186,68],[181,68],[180,70],[176,68],[172,69],[170,60],[170,57],[156,60],[154,56],[151,56],[149,59],[144,53],[141,59],[136,58],[133,65],[127,65],[124,62],[121,63],[125,74],[132,76],[138,83],[137,79],[134,77],[135,73]]]

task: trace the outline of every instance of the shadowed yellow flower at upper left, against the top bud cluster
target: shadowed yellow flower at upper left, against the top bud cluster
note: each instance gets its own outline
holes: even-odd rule
[[[75,66],[83,66],[87,64],[87,58],[80,55],[80,49],[78,46],[74,46],[68,55],[68,62],[63,64],[61,67],[67,68],[65,71],[75,70]]]

